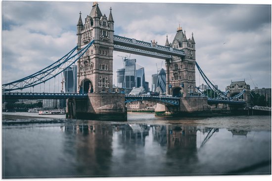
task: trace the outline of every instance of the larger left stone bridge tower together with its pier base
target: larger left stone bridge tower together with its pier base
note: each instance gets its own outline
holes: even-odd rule
[[[114,21],[111,10],[109,17],[106,17],[94,2],[85,24],[80,13],[77,24],[78,51],[93,41],[77,62],[77,91],[88,93],[88,98],[68,99],[68,118],[127,120],[125,95],[112,93]]]

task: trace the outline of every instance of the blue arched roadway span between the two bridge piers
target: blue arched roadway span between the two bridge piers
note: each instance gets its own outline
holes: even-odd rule
[[[160,103],[162,105],[168,105],[168,106],[180,105],[180,98],[176,98],[176,97],[148,96],[148,95],[141,95],[141,96],[126,95],[125,96],[125,103],[130,103],[134,101],[152,101],[155,103]]]

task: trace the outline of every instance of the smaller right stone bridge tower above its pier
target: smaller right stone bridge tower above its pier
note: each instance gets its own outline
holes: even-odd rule
[[[188,97],[195,92],[195,41],[192,37],[187,39],[185,31],[181,26],[171,44],[168,37],[165,46],[174,49],[181,49],[186,54],[185,57],[173,57],[166,60],[166,92],[173,96]]]

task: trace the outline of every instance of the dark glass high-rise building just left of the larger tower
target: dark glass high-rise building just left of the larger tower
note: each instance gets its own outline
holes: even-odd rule
[[[77,66],[69,67],[63,72],[66,93],[77,92]]]

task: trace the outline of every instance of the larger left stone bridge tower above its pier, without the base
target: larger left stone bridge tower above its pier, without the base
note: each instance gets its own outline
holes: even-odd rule
[[[80,58],[78,64],[78,93],[109,93],[112,92],[113,74],[113,32],[114,21],[102,15],[97,2],[92,5],[91,13],[77,24],[78,50],[94,39],[89,50]]]

